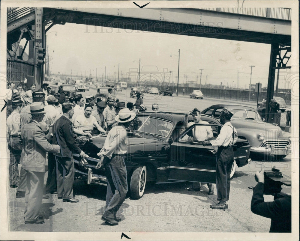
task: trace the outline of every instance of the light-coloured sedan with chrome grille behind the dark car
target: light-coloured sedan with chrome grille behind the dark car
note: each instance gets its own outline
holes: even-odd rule
[[[247,139],[253,153],[265,153],[282,159],[291,151],[291,134],[282,131],[274,124],[263,122],[258,112],[248,106],[219,104],[213,105],[201,113],[220,119],[220,113],[226,107],[234,113],[231,124],[238,132],[238,137]]]

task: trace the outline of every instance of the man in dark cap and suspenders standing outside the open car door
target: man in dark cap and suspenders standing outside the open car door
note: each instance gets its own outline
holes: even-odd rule
[[[203,145],[211,143],[214,150],[217,150],[216,186],[218,204],[210,205],[214,209],[228,209],[230,190],[230,172],[233,164],[232,145],[236,142],[238,134],[230,123],[233,113],[224,108],[220,114],[220,123],[223,125],[216,140],[203,141]]]

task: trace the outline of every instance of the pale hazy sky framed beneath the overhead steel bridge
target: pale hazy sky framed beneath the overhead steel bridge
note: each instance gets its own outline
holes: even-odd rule
[[[266,87],[268,82],[271,48],[268,44],[117,28],[95,29],[95,26],[66,23],[54,25],[48,31],[47,45],[52,73],[70,74],[72,69],[72,76],[77,73],[88,76],[90,71],[95,76],[97,68],[97,76],[102,78],[106,66],[106,74],[113,79],[120,64],[119,76],[122,71],[125,77],[125,73],[138,71],[141,58],[141,76],[149,78],[149,72],[157,67],[159,73],[165,73],[165,80],[172,71],[170,82],[176,83],[180,49],[179,83],[199,83],[199,69],[203,69],[202,84],[223,82],[231,87],[249,88],[250,65],[255,66],[252,84],[261,82]],[[283,81],[279,88],[284,88]]]

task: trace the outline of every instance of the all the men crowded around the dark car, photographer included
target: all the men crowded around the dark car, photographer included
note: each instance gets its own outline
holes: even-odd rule
[[[143,101],[138,97],[136,104],[129,102],[125,107],[125,102],[114,99],[110,91],[104,102],[104,99],[97,95],[84,98],[81,94],[76,94],[67,99],[61,88],[56,93],[49,89],[46,83],[38,91],[35,91],[34,84],[29,90],[24,89],[22,82],[17,87],[15,89],[15,84],[9,83],[6,93],[9,182],[11,188],[17,187],[16,198],[25,197],[25,224],[44,223],[44,219],[39,216],[39,210],[42,199],[49,198],[48,194],[57,194],[57,198],[63,202],[79,202],[73,194],[73,153],[79,154],[81,158],[88,158],[81,150],[82,145],[94,134],[107,133],[104,146],[98,153],[100,161],[96,166],[96,169],[105,166],[107,177],[107,200],[102,220],[110,225],[118,225],[121,218],[117,217],[116,213],[128,191],[124,161],[124,154],[127,152],[126,135],[128,130],[136,127],[136,114],[147,110]],[[95,105],[97,109],[93,110]],[[158,104],[154,103],[152,110],[158,109]],[[189,115],[193,116],[193,122],[188,122]],[[217,153],[216,187],[219,203],[210,205],[213,209],[228,209],[230,171],[233,163],[232,146],[237,140],[236,129],[230,123],[232,115],[228,109],[223,109],[220,114],[222,128],[215,140],[210,140],[213,137],[210,126],[196,126],[193,129],[193,139],[201,141],[203,145],[211,145]],[[195,123],[208,124],[201,120],[201,112],[197,108],[186,113],[182,133]],[[47,153],[48,177],[44,190]],[[20,163],[22,167],[19,173]],[[254,213],[262,215],[270,205],[290,204],[289,199],[264,204],[263,198],[259,196],[261,194],[257,191],[263,190],[263,175],[256,173],[256,176],[259,183],[251,205]],[[198,191],[200,188],[200,183],[193,183],[188,190]],[[209,195],[212,195],[213,185],[208,183],[208,188]],[[287,211],[289,212],[289,209]],[[270,231],[275,231],[278,228],[277,222],[280,221],[275,221],[276,212],[265,216],[272,218],[273,226]],[[287,221],[290,220],[289,215],[284,217]],[[280,231],[289,230],[290,223]]]

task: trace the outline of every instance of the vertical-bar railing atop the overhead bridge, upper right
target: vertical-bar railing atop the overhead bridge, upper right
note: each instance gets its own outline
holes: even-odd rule
[[[291,20],[291,8],[284,7],[200,7],[199,9]]]

